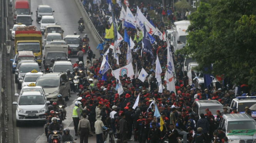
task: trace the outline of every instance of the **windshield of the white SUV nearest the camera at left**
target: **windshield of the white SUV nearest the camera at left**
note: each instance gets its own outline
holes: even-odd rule
[[[20,96],[19,105],[43,105],[43,96]]]

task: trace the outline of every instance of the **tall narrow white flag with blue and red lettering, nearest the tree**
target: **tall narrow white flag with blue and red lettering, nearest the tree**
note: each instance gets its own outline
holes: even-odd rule
[[[166,86],[167,90],[175,91],[175,80],[177,80],[174,70],[174,64],[172,60],[172,51],[169,40],[167,40],[167,74],[166,74]]]

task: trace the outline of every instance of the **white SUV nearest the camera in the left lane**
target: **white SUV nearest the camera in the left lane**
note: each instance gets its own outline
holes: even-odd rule
[[[22,92],[18,96],[17,102],[13,102],[17,106],[16,110],[16,126],[19,127],[21,122],[45,122],[45,112],[48,110],[45,96],[40,91]]]

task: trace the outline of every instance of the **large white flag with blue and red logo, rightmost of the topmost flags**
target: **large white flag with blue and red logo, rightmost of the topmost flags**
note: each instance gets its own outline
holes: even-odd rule
[[[153,35],[156,32],[156,28],[147,20],[147,18],[143,15],[137,6],[136,26],[137,28],[143,30],[144,25],[146,26],[146,30],[150,35]]]

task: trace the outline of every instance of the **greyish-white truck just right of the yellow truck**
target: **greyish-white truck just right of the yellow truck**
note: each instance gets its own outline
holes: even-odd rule
[[[45,72],[48,72],[52,67],[51,59],[55,59],[55,61],[57,61],[57,58],[59,57],[61,61],[67,61],[68,50],[68,45],[46,45],[44,56]]]

